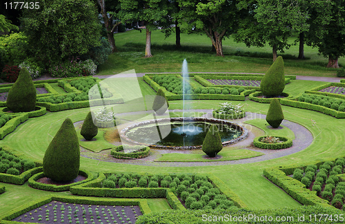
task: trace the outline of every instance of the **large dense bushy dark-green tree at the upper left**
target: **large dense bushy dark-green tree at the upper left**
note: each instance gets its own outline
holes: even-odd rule
[[[34,54],[61,61],[100,45],[101,25],[90,0],[41,0],[38,10],[24,10],[23,30]]]

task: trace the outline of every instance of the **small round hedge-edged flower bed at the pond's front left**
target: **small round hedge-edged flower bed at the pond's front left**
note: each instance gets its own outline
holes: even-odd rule
[[[126,151],[124,152],[124,145],[119,145],[110,150],[110,155],[117,159],[140,159],[150,154],[150,147],[145,145],[125,145]]]

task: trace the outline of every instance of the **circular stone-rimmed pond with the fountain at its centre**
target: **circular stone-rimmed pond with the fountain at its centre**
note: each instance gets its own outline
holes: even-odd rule
[[[245,139],[248,130],[230,121],[204,118],[155,119],[130,125],[120,132],[121,139],[162,149],[193,150],[201,145],[210,128],[216,124],[223,145]]]

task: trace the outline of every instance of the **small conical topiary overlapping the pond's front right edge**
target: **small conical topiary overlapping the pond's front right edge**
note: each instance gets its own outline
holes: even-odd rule
[[[221,139],[217,125],[211,125],[208,130],[204,143],[202,143],[202,151],[205,152],[210,157],[215,157],[218,152],[221,151],[223,145],[221,144]]]

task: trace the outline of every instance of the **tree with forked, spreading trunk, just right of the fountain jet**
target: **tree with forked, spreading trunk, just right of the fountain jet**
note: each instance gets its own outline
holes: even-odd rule
[[[181,28],[203,30],[210,38],[217,56],[224,56],[222,41],[232,32],[237,21],[237,1],[177,0],[181,11]]]

